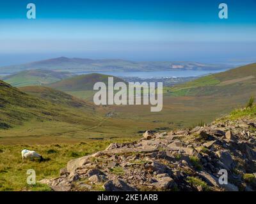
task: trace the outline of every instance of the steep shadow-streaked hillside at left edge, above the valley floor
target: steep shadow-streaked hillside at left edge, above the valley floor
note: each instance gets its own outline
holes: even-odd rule
[[[38,89],[42,88],[38,87]],[[47,92],[50,92],[49,96],[46,96]],[[49,100],[51,94],[55,96]],[[41,95],[42,98],[28,95],[0,81],[0,128],[13,128],[29,120],[35,122],[61,121],[84,126],[100,120],[92,105],[84,101],[52,89],[46,89]]]

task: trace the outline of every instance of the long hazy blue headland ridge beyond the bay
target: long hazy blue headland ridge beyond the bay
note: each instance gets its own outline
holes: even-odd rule
[[[57,57],[42,61],[4,66],[0,73],[15,73],[28,69],[46,69],[71,72],[83,71],[169,71],[169,70],[219,70],[228,69],[225,64],[206,64],[200,62],[179,61],[128,61],[122,59],[86,59]]]

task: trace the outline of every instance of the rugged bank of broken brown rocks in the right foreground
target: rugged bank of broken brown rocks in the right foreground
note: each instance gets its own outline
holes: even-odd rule
[[[147,131],[133,143],[69,161],[54,191],[255,191],[256,117],[217,120],[169,133]],[[220,184],[220,170],[228,184]]]

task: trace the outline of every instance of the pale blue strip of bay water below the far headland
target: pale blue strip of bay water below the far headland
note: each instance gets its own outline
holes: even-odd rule
[[[90,73],[99,73],[102,75],[112,75],[115,77],[139,77],[139,78],[163,78],[163,77],[201,77],[204,75],[210,75],[212,73],[218,73],[226,71],[227,69],[214,70],[214,71],[195,71],[195,70],[183,70],[183,71],[95,71],[95,72],[76,72],[77,75],[86,75]]]

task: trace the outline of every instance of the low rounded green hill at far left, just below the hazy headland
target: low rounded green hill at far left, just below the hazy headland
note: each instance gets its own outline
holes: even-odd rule
[[[50,84],[72,76],[73,75],[68,72],[34,69],[20,71],[19,73],[3,77],[2,80],[15,87],[24,87],[28,85]]]

